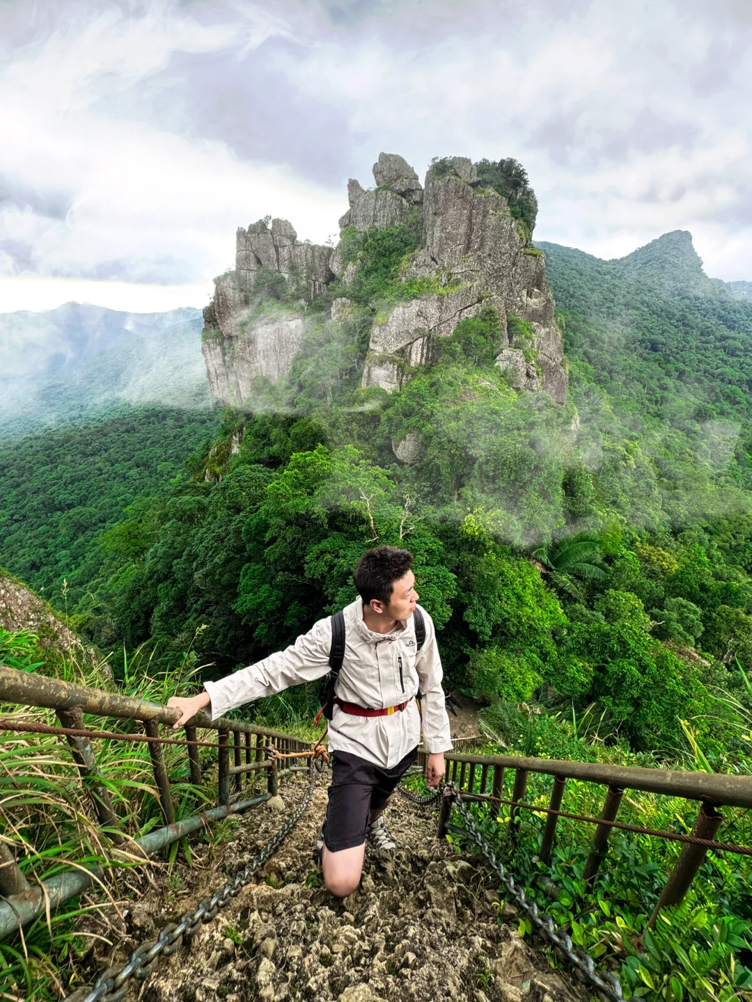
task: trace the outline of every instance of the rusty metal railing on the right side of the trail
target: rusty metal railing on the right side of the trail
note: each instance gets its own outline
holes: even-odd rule
[[[559,818],[571,818],[596,825],[593,846],[583,875],[589,883],[595,880],[606,858],[609,836],[615,828],[684,843],[679,859],[648,922],[650,928],[655,927],[658,913],[662,908],[677,905],[682,901],[710,850],[752,856],[750,847],[715,840],[725,820],[720,810],[722,807],[752,808],[752,777],[682,773],[674,770],[562,762],[554,759],[525,759],[516,756],[465,755],[454,752],[447,754],[445,759],[446,779],[454,785],[462,800],[490,801],[510,808],[508,833],[512,844],[518,838],[522,811],[546,815],[537,853],[543,862],[550,859]],[[425,761],[426,755],[421,752],[418,764],[424,766]],[[503,795],[504,775],[507,770],[513,771],[514,774],[510,798],[504,798]],[[553,779],[547,807],[524,803],[527,781],[531,773]],[[561,810],[568,780],[579,780],[607,788],[600,817],[591,818]],[[622,798],[628,790],[679,797],[696,802],[698,814],[692,832],[689,835],[661,832],[619,822],[617,819]],[[439,838],[444,838],[448,831],[451,807],[451,798],[444,796],[439,812],[437,833]]]

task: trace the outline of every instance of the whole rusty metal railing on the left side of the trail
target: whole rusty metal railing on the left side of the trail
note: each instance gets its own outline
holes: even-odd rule
[[[0,702],[55,711],[60,721],[59,727],[34,720],[3,719],[0,720],[0,729],[65,736],[81,782],[90,796],[96,820],[102,833],[113,844],[111,859],[115,862],[122,860],[131,865],[134,853],[143,854],[145,861],[178,839],[205,828],[209,823],[246,811],[274,797],[278,792],[280,776],[294,770],[307,769],[303,763],[310,762],[313,749],[310,741],[301,740],[294,734],[231,720],[225,716],[213,720],[204,711],[197,713],[185,724],[184,739],[178,738],[171,730],[172,736],[163,737],[159,734],[159,724],[173,724],[179,718],[178,710],[147,699],[89,688],[87,685],[38,675],[32,671],[18,671],[5,665],[0,665]],[[84,726],[84,713],[132,720],[140,724],[141,732],[94,730]],[[217,731],[218,740],[199,740],[199,727]],[[129,838],[122,831],[109,791],[97,770],[91,741],[98,737],[148,744],[154,785],[165,822],[162,828],[151,831],[140,839]],[[197,787],[203,785],[199,748],[209,746],[218,749],[218,807],[180,821],[175,820],[169,777],[162,754],[165,744],[185,747],[191,783]],[[295,753],[300,753],[300,757],[296,757]],[[278,756],[287,758],[281,760]],[[285,769],[280,769],[281,762],[285,763]],[[267,789],[265,793],[256,794],[256,782],[260,773],[266,773]],[[249,784],[254,796],[246,796],[244,799],[244,792],[249,792],[248,789],[244,790],[244,785],[248,788]],[[121,848],[118,849],[118,846]],[[125,846],[127,853],[123,848]],[[0,842],[0,895],[5,899],[0,901],[0,938],[42,915],[47,908],[56,909],[101,879],[99,867],[81,868],[76,865],[72,871],[65,871],[31,886],[18,866],[8,841]]]

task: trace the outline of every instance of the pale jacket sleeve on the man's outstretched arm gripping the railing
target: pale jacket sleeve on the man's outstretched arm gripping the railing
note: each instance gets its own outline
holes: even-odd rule
[[[263,661],[241,668],[217,682],[205,682],[204,687],[212,699],[212,719],[263,695],[273,695],[291,685],[321,678],[329,671],[332,626],[327,617],[320,619],[286,650],[278,650]]]

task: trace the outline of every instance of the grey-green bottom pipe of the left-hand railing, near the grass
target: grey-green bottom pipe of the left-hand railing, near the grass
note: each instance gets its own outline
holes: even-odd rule
[[[230,814],[240,814],[257,804],[263,804],[269,800],[269,794],[261,794],[247,801],[239,801],[230,807],[213,808],[211,811],[204,811],[201,814],[193,815],[191,818],[183,818],[172,825],[165,825],[154,832],[149,832],[140,839],[134,839],[131,847],[139,849],[144,854],[145,859],[154,856],[178,839],[184,839],[194,832],[198,832],[210,822],[222,821]],[[133,854],[135,855],[135,854]],[[137,860],[126,856],[122,850],[115,850],[112,853],[113,859],[133,864]],[[77,897],[92,884],[102,879],[102,872],[99,867],[90,867],[85,870],[73,870],[56,874],[49,880],[43,882],[43,889],[40,886],[32,887],[22,894],[15,895],[7,900],[0,901],[0,939],[18,929],[19,923],[27,925],[40,915],[44,914],[46,902],[49,908],[54,911],[66,901]],[[46,892],[46,893],[45,893]]]

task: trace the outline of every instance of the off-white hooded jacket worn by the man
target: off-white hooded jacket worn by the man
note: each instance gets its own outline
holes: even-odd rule
[[[420,742],[421,718],[414,696],[420,692],[423,744],[427,752],[449,752],[449,717],[441,688],[441,659],[433,620],[419,606],[425,641],[418,651],[413,617],[399,621],[390,633],[375,633],[363,619],[363,601],[344,609],[345,656],[336,693],[345,702],[383,709],[409,700],[401,712],[388,716],[354,716],[335,706],[329,724],[329,748],[349,752],[382,769],[392,769]],[[212,699],[212,719],[263,695],[313,681],[329,671],[331,619],[319,619],[308,633],[286,650],[222,678],[206,682]]]

